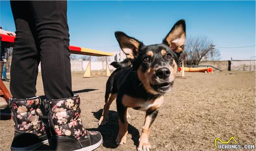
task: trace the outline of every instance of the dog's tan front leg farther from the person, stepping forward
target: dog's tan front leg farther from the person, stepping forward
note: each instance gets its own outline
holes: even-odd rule
[[[150,143],[148,142],[150,134],[150,126],[156,119],[158,110],[147,111],[144,126],[142,127],[141,137],[139,138],[138,151],[150,151]]]

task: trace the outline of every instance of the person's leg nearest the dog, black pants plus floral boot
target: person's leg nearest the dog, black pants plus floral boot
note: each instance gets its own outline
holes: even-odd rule
[[[43,87],[49,109],[52,150],[91,151],[99,132],[85,130],[80,98],[72,92],[67,1],[29,1],[40,45]]]

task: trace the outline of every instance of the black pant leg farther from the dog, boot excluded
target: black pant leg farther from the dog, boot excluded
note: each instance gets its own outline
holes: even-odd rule
[[[10,90],[13,98],[32,98],[36,94],[39,52],[35,41],[35,30],[27,2],[11,1],[16,27],[15,46],[11,62]]]

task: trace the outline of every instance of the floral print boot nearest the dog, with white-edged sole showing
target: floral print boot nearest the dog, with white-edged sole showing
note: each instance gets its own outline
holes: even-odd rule
[[[44,103],[49,114],[52,150],[92,151],[102,144],[100,132],[87,131],[82,126],[78,95]]]

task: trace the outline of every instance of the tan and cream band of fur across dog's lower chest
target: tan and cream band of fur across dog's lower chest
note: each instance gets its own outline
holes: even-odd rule
[[[127,106],[141,111],[156,110],[163,104],[163,96],[155,99],[143,100],[141,98],[134,98],[124,95],[122,103]]]

